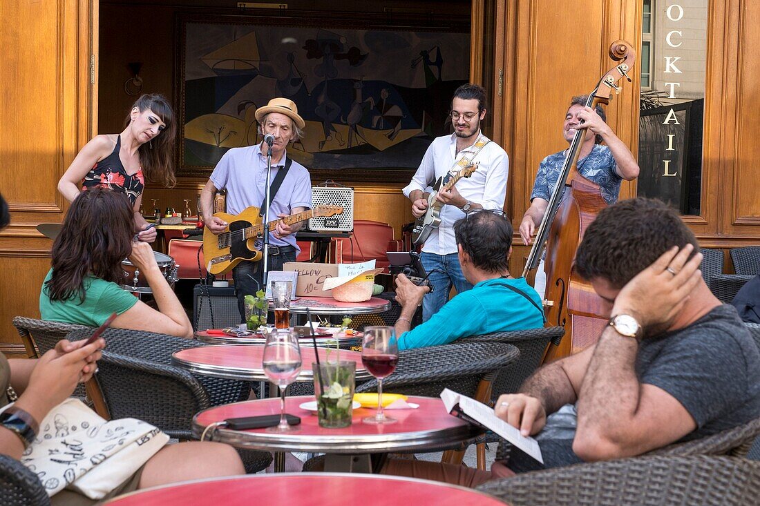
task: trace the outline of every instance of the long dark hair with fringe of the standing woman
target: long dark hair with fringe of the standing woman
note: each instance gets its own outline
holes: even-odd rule
[[[150,109],[166,124],[161,133],[151,140],[151,144],[146,142],[138,147],[140,165],[145,178],[150,182],[173,188],[177,184],[176,176],[174,176],[174,138],[177,134],[174,110],[169,100],[166,100],[163,95],[158,93],[142,95],[129,108],[130,112],[127,113],[124,121],[124,128],[131,122],[131,110],[135,107],[140,109],[140,112]]]

